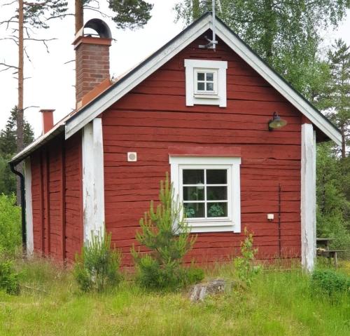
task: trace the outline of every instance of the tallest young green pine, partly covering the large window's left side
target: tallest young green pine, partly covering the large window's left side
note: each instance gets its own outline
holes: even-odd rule
[[[151,250],[142,254],[132,248],[137,267],[137,281],[146,288],[177,289],[202,280],[200,270],[182,266],[183,257],[195,243],[181,215],[179,200],[174,201],[174,191],[167,175],[160,182],[160,204],[156,210],[151,201],[150,210],[141,218],[141,231],[137,241]]]

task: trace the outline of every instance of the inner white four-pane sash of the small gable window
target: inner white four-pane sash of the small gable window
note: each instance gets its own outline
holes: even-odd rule
[[[194,69],[194,93],[197,95],[218,94],[218,70]]]

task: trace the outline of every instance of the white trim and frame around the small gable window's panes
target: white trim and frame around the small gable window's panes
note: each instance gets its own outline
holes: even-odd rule
[[[185,60],[186,68],[186,105],[219,105],[226,107],[226,69],[228,62],[218,60]],[[195,91],[196,72],[216,72],[216,94],[198,93]]]

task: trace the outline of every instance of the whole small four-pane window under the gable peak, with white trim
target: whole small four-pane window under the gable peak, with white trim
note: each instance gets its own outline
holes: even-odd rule
[[[228,62],[185,60],[186,105],[226,107],[226,69]]]

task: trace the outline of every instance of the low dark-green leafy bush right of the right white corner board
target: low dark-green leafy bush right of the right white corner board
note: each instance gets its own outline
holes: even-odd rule
[[[311,274],[311,290],[321,295],[350,295],[350,277],[330,269],[316,269]]]

